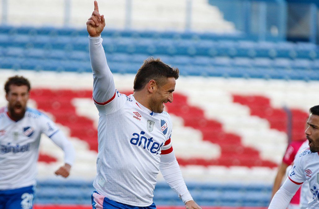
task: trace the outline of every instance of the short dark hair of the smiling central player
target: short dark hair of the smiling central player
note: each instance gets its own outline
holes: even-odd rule
[[[149,57],[137,71],[134,79],[134,91],[143,89],[146,83],[152,79],[158,85],[162,85],[166,81],[166,78],[169,77],[174,77],[176,80],[179,77],[178,68],[170,67],[159,58],[154,59],[153,57]]]

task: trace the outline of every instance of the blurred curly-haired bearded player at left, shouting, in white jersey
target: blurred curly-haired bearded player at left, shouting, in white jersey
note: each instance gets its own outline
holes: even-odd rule
[[[4,85],[8,105],[0,109],[0,209],[33,207],[41,133],[64,151],[65,164],[56,175],[68,177],[74,148],[43,113],[27,107],[30,83],[22,76]]]

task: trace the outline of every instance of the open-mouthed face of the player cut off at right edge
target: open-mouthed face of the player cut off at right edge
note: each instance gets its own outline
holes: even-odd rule
[[[311,114],[307,121],[307,139],[311,152],[319,152],[319,115]]]

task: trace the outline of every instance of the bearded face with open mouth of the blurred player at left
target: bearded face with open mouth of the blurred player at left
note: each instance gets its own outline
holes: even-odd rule
[[[5,95],[5,98],[9,102],[9,114],[11,118],[19,120],[23,118],[26,112],[26,103],[29,99],[28,87],[26,85],[17,86],[11,84],[9,89],[9,92]]]

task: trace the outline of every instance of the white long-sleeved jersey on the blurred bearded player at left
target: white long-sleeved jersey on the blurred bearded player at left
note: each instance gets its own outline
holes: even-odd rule
[[[72,144],[46,115],[27,108],[24,117],[14,121],[7,107],[0,109],[0,190],[35,185],[41,133],[63,149],[65,163],[72,165]]]

